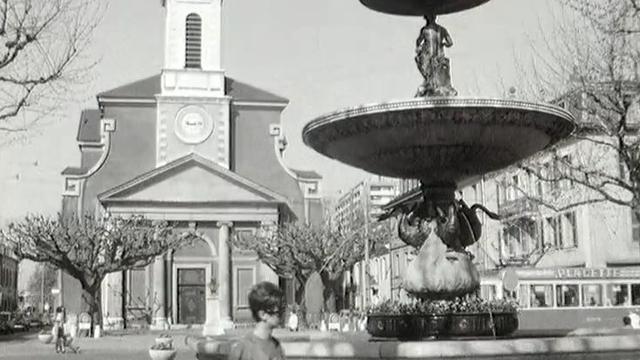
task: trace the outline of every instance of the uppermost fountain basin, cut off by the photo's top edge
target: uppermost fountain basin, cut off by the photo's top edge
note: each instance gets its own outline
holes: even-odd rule
[[[369,9],[393,14],[423,16],[449,14],[482,5],[489,0],[360,0]]]

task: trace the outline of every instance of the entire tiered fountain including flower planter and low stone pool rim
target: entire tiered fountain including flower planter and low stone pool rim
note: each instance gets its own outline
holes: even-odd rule
[[[391,309],[393,313],[370,314],[367,330],[374,337],[402,340],[449,338],[372,342],[358,333],[280,334],[288,359],[612,359],[640,353],[635,334],[500,339],[517,328],[513,309],[489,304],[488,311],[473,312],[477,301],[460,300],[479,288],[479,273],[465,250],[481,236],[476,211],[496,216],[457,199],[456,189],[552,146],[575,127],[572,115],[555,106],[457,96],[444,53],[453,41],[436,18],[488,1],[360,0],[376,11],[424,17],[415,56],[423,80],[413,99],[333,112],[303,129],[305,144],[330,158],[374,174],[420,180],[422,202],[399,204],[391,211],[400,216],[401,239],[418,251],[404,278],[404,288],[416,300]],[[452,306],[471,313],[456,316],[449,311]],[[191,346],[198,359],[221,359],[230,341],[229,336],[207,338]]]

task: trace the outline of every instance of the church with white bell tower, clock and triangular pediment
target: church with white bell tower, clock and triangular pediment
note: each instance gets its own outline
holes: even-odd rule
[[[112,273],[102,284],[105,328],[129,326],[153,309],[152,328],[200,325],[205,335],[248,321],[247,292],[287,279],[233,236],[322,217],[321,177],[288,168],[281,113],[288,100],[225,75],[222,0],[164,0],[160,74],[97,95],[82,112],[81,164],[63,171],[66,215],[143,215],[195,229],[193,247]],[[62,274],[62,303],[81,309],[80,287]],[[216,288],[217,290],[214,290]]]

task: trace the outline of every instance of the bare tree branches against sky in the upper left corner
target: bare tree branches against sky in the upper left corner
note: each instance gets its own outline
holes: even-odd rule
[[[0,134],[47,115],[83,81],[104,2],[0,0]]]

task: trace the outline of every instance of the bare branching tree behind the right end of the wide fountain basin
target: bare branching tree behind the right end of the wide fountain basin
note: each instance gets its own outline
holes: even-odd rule
[[[572,112],[577,130],[519,165],[544,185],[529,200],[561,211],[610,202],[640,219],[640,2],[563,0],[522,66],[524,97]]]

